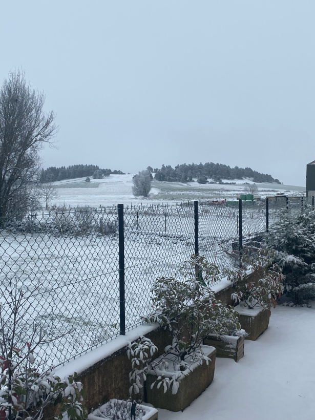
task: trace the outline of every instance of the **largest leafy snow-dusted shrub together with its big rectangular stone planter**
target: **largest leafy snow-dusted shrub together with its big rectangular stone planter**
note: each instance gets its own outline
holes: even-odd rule
[[[214,376],[216,349],[203,340],[240,329],[237,312],[217,301],[208,285],[218,274],[214,264],[194,255],[176,278],[158,278],[152,288],[155,310],[145,320],[168,329],[173,339],[145,374],[146,401],[155,407],[180,411],[190,405]]]

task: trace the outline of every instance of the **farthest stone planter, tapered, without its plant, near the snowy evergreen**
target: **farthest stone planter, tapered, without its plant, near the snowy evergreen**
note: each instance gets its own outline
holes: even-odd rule
[[[234,308],[240,316],[240,324],[248,333],[247,340],[257,340],[258,337],[268,328],[270,310],[257,306],[253,309],[240,305]]]

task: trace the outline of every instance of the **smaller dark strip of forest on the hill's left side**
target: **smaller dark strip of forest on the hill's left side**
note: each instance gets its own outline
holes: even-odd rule
[[[110,174],[124,175],[121,171],[111,171],[110,169],[100,169],[97,165],[71,165],[68,167],[51,166],[42,169],[40,172],[39,182],[61,181],[62,179],[94,177],[102,178],[110,176]]]

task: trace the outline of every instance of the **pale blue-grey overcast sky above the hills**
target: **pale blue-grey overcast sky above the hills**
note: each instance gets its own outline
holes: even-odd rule
[[[0,4],[0,81],[24,69],[60,127],[44,167],[212,161],[305,185],[314,0]]]

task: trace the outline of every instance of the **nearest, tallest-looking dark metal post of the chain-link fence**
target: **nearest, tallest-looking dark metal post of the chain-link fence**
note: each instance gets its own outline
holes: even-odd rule
[[[125,335],[124,307],[124,233],[123,204],[118,204],[118,246],[119,246],[119,326],[120,334]]]

